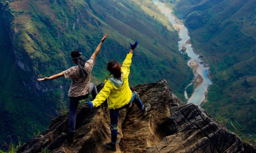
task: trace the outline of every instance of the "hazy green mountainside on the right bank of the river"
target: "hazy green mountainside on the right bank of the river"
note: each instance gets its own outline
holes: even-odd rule
[[[193,47],[210,65],[213,84],[202,106],[232,131],[255,140],[256,1],[167,0],[166,4],[185,19]]]

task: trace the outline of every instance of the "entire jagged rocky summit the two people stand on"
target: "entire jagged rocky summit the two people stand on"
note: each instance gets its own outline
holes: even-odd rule
[[[101,89],[103,84],[97,86]],[[166,80],[139,84],[137,91],[151,110],[143,117],[135,104],[120,111],[117,152],[256,152],[256,148],[229,132],[204,109],[185,104],[168,87]],[[52,153],[110,152],[103,147],[110,141],[110,119],[106,104],[77,112],[74,141],[67,132],[68,115],[52,120],[48,130],[26,142],[18,152],[35,153],[47,147]]]

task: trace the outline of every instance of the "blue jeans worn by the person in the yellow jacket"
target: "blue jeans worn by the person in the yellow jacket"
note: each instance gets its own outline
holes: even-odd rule
[[[109,113],[110,113],[111,143],[112,144],[117,143],[117,125],[118,125],[119,110],[129,107],[133,101],[135,102],[135,104],[138,106],[138,108],[141,111],[144,109],[144,105],[142,104],[139,95],[132,92],[132,98],[131,98],[131,100],[128,104],[126,104],[123,107],[118,108],[118,109],[110,109],[109,110]]]

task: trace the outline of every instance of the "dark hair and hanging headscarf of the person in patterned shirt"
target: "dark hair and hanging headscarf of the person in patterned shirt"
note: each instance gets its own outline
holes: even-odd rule
[[[77,61],[77,65],[78,65],[78,69],[79,69],[79,73],[81,77],[87,77],[89,74],[88,72],[84,69],[84,65],[85,65],[85,61],[82,58],[82,53],[79,52],[78,49],[76,49],[75,51],[71,52],[71,58],[72,60]]]

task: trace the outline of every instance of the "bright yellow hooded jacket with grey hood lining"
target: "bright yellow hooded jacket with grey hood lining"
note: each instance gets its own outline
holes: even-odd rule
[[[103,89],[98,93],[96,98],[92,101],[93,107],[98,107],[107,99],[109,109],[117,109],[128,104],[132,97],[132,91],[129,87],[128,76],[130,73],[130,66],[132,63],[132,54],[127,54],[121,70],[123,76],[123,85],[121,87],[115,86],[108,78],[105,81]]]

